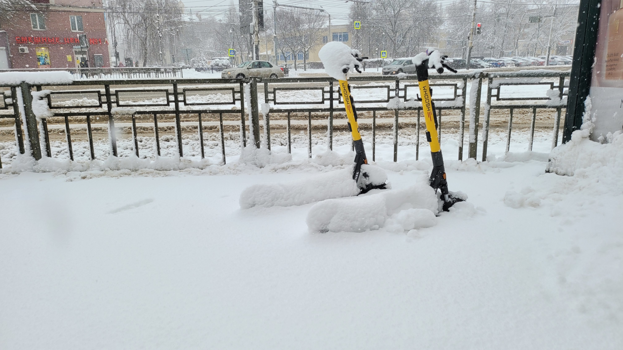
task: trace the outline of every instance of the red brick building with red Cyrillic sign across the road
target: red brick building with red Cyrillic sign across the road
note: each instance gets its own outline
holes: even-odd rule
[[[102,0],[31,2],[0,21],[0,68],[110,67]]]

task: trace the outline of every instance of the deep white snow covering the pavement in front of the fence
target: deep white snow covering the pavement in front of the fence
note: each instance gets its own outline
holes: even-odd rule
[[[448,160],[469,204],[408,233],[310,232],[314,204],[240,209],[252,184],[347,166],[304,143],[229,174],[0,174],[0,348],[621,349],[621,153],[590,146],[556,163],[574,176],[545,174],[547,153],[502,158],[502,141],[496,161]],[[424,183],[430,161],[390,147],[392,188]]]

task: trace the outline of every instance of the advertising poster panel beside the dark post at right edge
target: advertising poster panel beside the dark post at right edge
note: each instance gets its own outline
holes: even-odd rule
[[[602,0],[591,81],[591,138],[623,129],[623,0]]]

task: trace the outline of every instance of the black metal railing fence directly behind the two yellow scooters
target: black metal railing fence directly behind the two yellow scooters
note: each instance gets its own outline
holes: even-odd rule
[[[566,90],[569,72],[533,70],[529,72],[482,72],[474,71],[458,74],[432,74],[430,86],[433,100],[436,102],[439,122],[439,134],[442,132],[442,111],[455,110],[460,113],[459,154],[463,158],[465,113],[470,111],[468,122],[468,157],[477,157],[478,125],[480,123],[481,95],[483,82],[486,83],[484,99],[484,119],[482,123],[482,160],[487,157],[488,133],[492,110],[510,111],[506,151],[510,144],[513,128],[513,111],[531,110],[531,144],[535,132],[537,110],[555,110],[552,125],[552,148],[558,143],[561,110],[566,108]],[[397,161],[399,121],[406,115],[416,115],[416,133],[419,140],[421,130],[422,106],[419,102],[417,78],[414,75],[400,76],[364,76],[357,75],[350,79],[353,97],[359,118],[363,113],[371,113],[371,131],[373,159],[376,150],[377,115],[393,114],[392,138],[394,161]],[[468,91],[468,85],[471,88]],[[72,128],[70,118],[85,118],[90,158],[95,159],[93,146],[92,117],[105,117],[107,121],[110,155],[118,156],[117,131],[115,119],[130,118],[134,154],[140,156],[137,137],[137,116],[153,118],[153,133],[158,156],[161,137],[159,136],[158,118],[174,116],[175,141],[179,157],[184,156],[182,138],[182,116],[184,125],[197,126],[201,158],[204,152],[204,116],[218,115],[222,163],[226,162],[226,141],[224,138],[223,116],[237,118],[240,148],[247,143],[260,147],[264,144],[270,150],[271,118],[283,116],[287,130],[287,149],[291,149],[292,113],[307,113],[308,156],[312,157],[312,113],[315,116],[326,115],[326,136],[328,148],[333,149],[334,113],[343,112],[341,93],[333,78],[246,78],[242,79],[149,79],[149,80],[75,80],[67,83],[37,85],[37,83],[2,80],[0,91],[2,105],[0,118],[14,120],[16,144],[19,153],[31,153],[34,158],[51,157],[49,126],[47,118],[62,117],[65,120],[65,136],[69,158],[74,161],[72,151]],[[524,87],[516,91],[517,87]],[[44,90],[45,88],[45,90]],[[513,91],[515,88],[515,91]],[[545,95],[532,95],[536,90],[543,90]],[[36,91],[32,91],[32,90]],[[244,101],[244,102],[243,102]],[[469,103],[469,105],[467,105]],[[286,118],[287,116],[287,118]],[[248,129],[247,120],[248,119]],[[260,117],[264,137],[260,136]],[[191,121],[188,121],[191,120]],[[23,124],[23,126],[22,126]],[[231,124],[231,123],[230,123]],[[360,126],[364,128],[365,125]],[[247,132],[248,130],[248,132]],[[439,136],[440,136],[439,135]],[[261,140],[261,141],[260,141]],[[419,142],[416,143],[416,159],[419,157]],[[0,162],[0,167],[2,163]]]

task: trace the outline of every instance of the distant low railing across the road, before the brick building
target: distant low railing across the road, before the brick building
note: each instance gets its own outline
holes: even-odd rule
[[[108,67],[108,68],[47,68],[0,69],[2,72],[69,72],[74,80],[83,79],[145,79],[183,78],[180,67]]]

